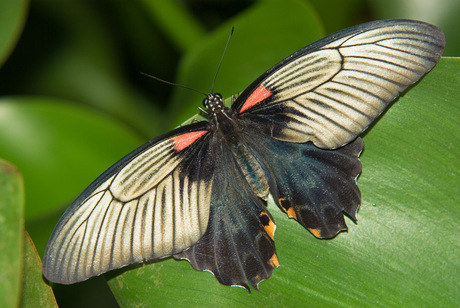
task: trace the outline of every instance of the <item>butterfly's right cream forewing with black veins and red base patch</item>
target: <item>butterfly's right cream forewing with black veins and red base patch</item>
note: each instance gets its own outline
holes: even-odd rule
[[[267,135],[325,149],[359,136],[433,68],[443,32],[411,20],[376,21],[328,36],[259,77],[232,108]]]

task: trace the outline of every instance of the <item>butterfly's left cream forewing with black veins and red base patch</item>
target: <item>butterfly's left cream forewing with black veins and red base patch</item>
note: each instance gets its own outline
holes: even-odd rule
[[[196,243],[209,217],[209,137],[204,122],[178,128],[96,179],[53,231],[44,276],[70,284]]]

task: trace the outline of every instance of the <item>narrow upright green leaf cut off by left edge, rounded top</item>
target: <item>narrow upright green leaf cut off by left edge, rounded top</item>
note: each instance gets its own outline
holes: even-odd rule
[[[21,294],[24,185],[12,164],[0,160],[0,307],[17,307]]]

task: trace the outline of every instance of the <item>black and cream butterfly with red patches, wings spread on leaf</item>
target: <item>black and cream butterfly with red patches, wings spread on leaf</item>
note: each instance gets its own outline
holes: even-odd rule
[[[43,275],[71,284],[173,256],[223,285],[258,289],[279,265],[271,194],[315,237],[347,230],[361,194],[359,137],[437,63],[443,32],[383,20],[327,36],[288,56],[207,121],[154,138],[101,174],[48,242]]]

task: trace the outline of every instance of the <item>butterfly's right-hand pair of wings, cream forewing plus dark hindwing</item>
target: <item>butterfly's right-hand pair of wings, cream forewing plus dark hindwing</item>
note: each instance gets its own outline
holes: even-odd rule
[[[292,54],[237,98],[244,140],[290,217],[320,238],[346,229],[343,212],[355,219],[363,148],[356,138],[433,68],[444,43],[423,22],[363,24]]]

